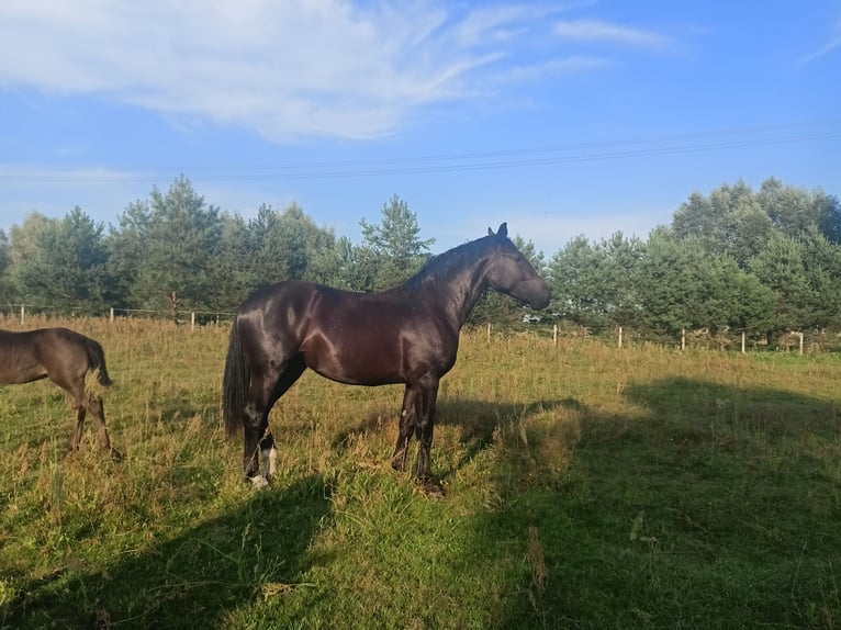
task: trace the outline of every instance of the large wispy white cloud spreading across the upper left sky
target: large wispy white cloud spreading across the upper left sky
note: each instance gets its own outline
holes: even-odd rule
[[[505,77],[513,47],[547,35],[535,12],[558,10],[512,3],[457,14],[424,0],[3,0],[0,86],[104,95],[272,139],[377,137],[418,109],[472,98],[493,75]],[[534,67],[556,56],[549,50]]]

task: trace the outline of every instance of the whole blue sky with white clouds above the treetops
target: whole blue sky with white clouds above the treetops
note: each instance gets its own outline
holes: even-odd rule
[[[646,238],[693,192],[841,195],[841,3],[3,0],[0,229],[183,175],[361,240]]]

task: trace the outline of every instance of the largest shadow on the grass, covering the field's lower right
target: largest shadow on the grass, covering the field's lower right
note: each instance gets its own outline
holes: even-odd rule
[[[523,554],[492,626],[838,628],[839,405],[687,379],[624,394],[648,413],[583,410],[556,490],[476,519],[471,561]]]

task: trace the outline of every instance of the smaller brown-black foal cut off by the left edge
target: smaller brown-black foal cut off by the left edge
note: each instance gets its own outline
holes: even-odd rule
[[[111,450],[102,397],[86,386],[88,372],[96,372],[101,385],[112,384],[99,341],[69,328],[0,330],[0,385],[49,379],[67,392],[76,412],[70,448],[79,448],[85,415],[90,412],[99,426],[100,446]]]

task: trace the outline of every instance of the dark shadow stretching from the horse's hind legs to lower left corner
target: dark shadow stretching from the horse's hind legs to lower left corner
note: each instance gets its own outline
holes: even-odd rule
[[[329,510],[318,475],[253,493],[236,509],[96,573],[30,581],[0,628],[213,628],[238,606],[296,587]]]

